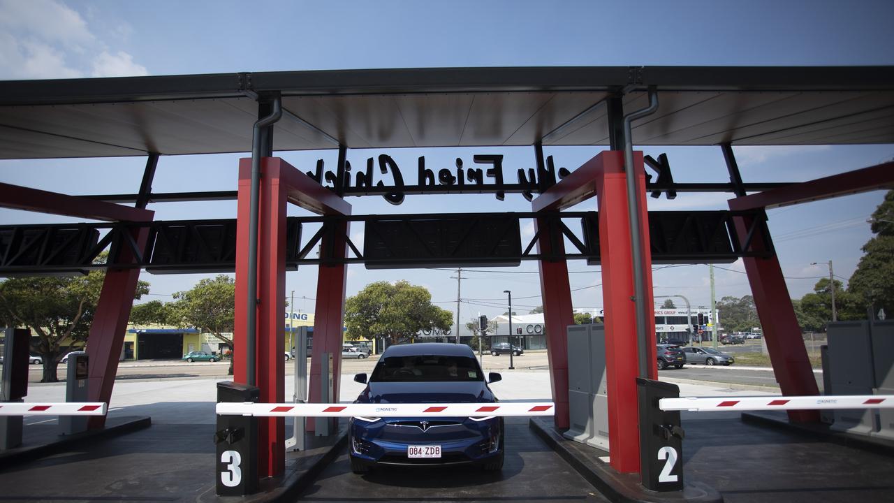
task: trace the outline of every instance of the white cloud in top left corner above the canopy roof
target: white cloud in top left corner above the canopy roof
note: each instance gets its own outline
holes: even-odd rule
[[[112,37],[126,38],[128,30],[112,30]],[[148,70],[132,55],[97,38],[80,13],[62,2],[0,0],[0,79],[88,75],[148,75]]]

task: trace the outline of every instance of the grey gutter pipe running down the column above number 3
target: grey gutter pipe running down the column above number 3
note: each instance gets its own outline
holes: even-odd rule
[[[248,365],[246,371],[248,373],[248,381],[246,384],[255,386],[255,359],[257,345],[257,214],[260,206],[260,188],[261,188],[261,130],[267,126],[274,124],[283,116],[283,100],[280,97],[274,98],[274,109],[270,115],[263,119],[258,119],[251,132],[251,200],[249,204],[249,312],[245,331],[245,342],[248,352],[246,359]],[[279,302],[278,300],[276,302]]]

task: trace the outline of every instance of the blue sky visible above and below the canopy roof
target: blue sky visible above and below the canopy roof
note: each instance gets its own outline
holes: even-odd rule
[[[209,72],[261,72],[350,68],[551,65],[806,65],[894,64],[890,1],[811,2],[80,2],[0,0],[0,79],[41,79]],[[640,147],[637,147],[640,148]],[[641,147],[666,152],[674,178],[725,181],[719,148]],[[419,155],[442,165],[476,153],[506,155],[505,173],[533,166],[533,150],[352,150],[362,166],[389,153],[401,166]],[[559,166],[573,169],[598,152],[592,148],[546,149]],[[746,181],[804,181],[871,166],[894,158],[894,145],[846,147],[738,147]],[[316,158],[332,166],[333,151],[283,152],[309,170]],[[154,190],[232,190],[240,155],[166,157]],[[136,192],[143,158],[0,161],[0,181],[71,194]],[[871,237],[869,217],[881,192],[820,201],[770,212],[770,225],[789,293],[810,291],[833,260],[847,279],[860,247]],[[725,209],[723,194],[680,194],[650,200],[650,209]],[[382,198],[350,198],[355,214],[527,211],[519,195],[408,196],[398,207]],[[157,219],[234,217],[232,202],[167,203],[150,207]],[[594,209],[595,201],[578,209]],[[291,214],[302,215],[299,209]],[[59,217],[0,212],[0,223],[58,222]],[[523,229],[523,232],[530,232]],[[360,228],[352,234],[360,237]],[[715,270],[717,298],[748,294],[740,262]],[[569,263],[574,304],[602,305],[598,268]],[[485,272],[497,271],[497,272]],[[464,270],[461,318],[505,311],[510,289],[514,311],[541,303],[535,263],[517,269]],[[371,281],[408,279],[429,288],[433,300],[455,311],[455,271],[349,270],[348,294]],[[198,276],[153,276],[149,299],[167,299]],[[287,294],[296,309],[313,311],[316,268],[288,274]],[[707,266],[662,269],[655,294],[683,294],[694,305],[710,302]],[[302,300],[302,296],[304,300]]]

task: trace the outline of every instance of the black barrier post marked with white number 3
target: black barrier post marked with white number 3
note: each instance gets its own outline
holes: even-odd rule
[[[231,381],[217,383],[217,403],[257,403],[260,389]],[[257,492],[257,418],[217,414],[217,496]]]

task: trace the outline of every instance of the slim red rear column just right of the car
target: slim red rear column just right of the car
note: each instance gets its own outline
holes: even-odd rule
[[[539,253],[565,253],[563,236],[550,239],[550,235],[558,232],[545,218],[536,218],[536,232],[542,233],[537,240]],[[568,335],[565,328],[574,325],[573,305],[571,304],[571,287],[568,279],[568,262],[538,260],[540,267],[540,291],[544,301],[544,324],[546,330],[546,357],[550,364],[550,387],[552,402],[555,404],[556,428],[568,429],[570,426],[568,399]]]

